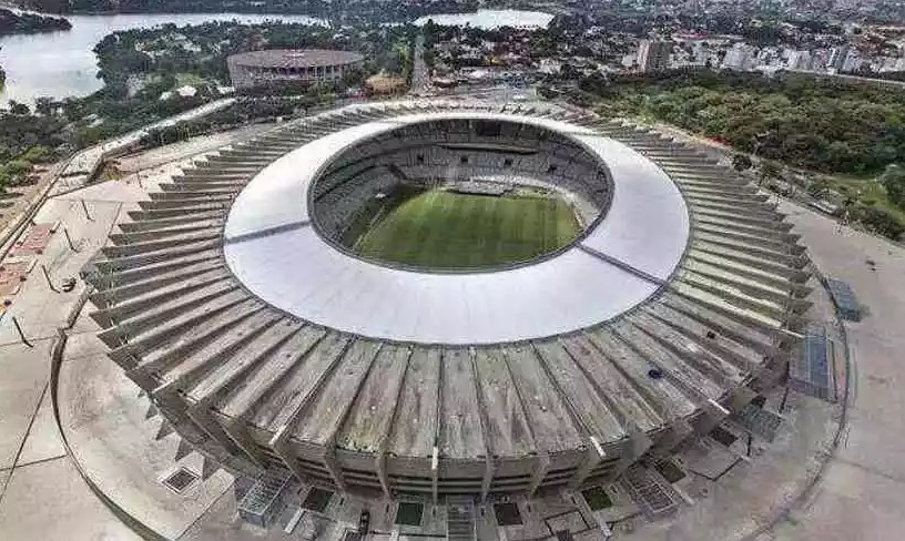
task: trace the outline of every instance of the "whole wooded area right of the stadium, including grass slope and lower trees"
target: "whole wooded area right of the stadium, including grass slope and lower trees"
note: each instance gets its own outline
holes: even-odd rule
[[[780,164],[810,171],[807,192],[842,197],[838,213],[889,238],[905,233],[905,93],[875,83],[780,73],[674,71],[578,76],[572,100],[608,116],[641,116],[760,159],[761,182]],[[876,177],[876,181],[873,178]]]

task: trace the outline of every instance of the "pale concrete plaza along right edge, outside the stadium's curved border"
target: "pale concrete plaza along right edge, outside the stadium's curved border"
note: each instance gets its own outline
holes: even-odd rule
[[[883,541],[905,529],[905,249],[791,204],[795,232],[826,275],[854,288],[870,314],[848,324],[850,427],[809,506],[776,539]],[[876,262],[872,272],[866,259]]]

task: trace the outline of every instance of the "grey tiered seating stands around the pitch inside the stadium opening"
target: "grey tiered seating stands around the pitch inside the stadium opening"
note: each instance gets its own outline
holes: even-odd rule
[[[481,180],[495,185],[474,184]],[[555,191],[582,224],[593,222],[611,195],[599,161],[566,135],[519,122],[446,119],[405,125],[342,152],[315,184],[315,221],[324,233],[342,235],[370,198],[400,182],[488,194],[498,193],[499,183]]]

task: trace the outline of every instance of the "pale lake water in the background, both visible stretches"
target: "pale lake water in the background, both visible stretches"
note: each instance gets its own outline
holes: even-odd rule
[[[69,16],[72,29],[61,32],[20,34],[0,38],[0,67],[7,72],[7,84],[0,92],[0,104],[9,100],[32,103],[38,96],[55,99],[88,95],[103,86],[98,79],[94,45],[110,32],[150,28],[169,22],[176,25],[210,21],[237,20],[246,23],[266,20],[317,23],[305,16],[191,13],[191,14],[99,14]],[[546,27],[552,16],[532,11],[478,11],[456,16],[433,16],[444,24],[471,24],[494,28]],[[424,23],[424,20],[416,23]]]

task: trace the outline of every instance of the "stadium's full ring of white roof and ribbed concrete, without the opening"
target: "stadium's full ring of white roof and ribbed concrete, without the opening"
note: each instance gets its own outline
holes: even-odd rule
[[[580,140],[612,175],[610,208],[562,253],[500,272],[399,270],[324,241],[306,197],[321,165],[427,118]],[[352,105],[223,149],[150,196],[90,273],[110,357],[218,460],[386,497],[622,471],[746,405],[806,308],[804,248],[755,186],[549,104]]]

